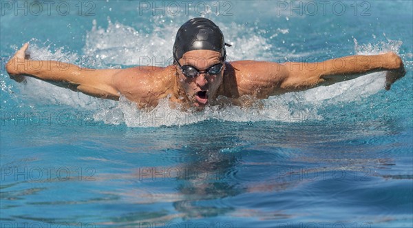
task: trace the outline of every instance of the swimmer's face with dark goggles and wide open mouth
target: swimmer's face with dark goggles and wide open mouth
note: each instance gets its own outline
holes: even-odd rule
[[[221,61],[220,52],[211,50],[192,50],[186,52],[179,60],[178,84],[184,90],[187,98],[196,107],[204,107],[213,98],[222,83],[222,75],[225,64]],[[222,64],[222,70],[220,65]],[[195,69],[191,69],[191,68]],[[192,76],[185,76],[182,69],[186,72],[199,72]],[[215,73],[218,72],[218,73]],[[215,74],[213,74],[215,73]]]

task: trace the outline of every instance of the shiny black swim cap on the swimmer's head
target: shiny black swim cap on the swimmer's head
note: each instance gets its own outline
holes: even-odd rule
[[[224,35],[215,23],[202,17],[193,18],[185,22],[176,32],[173,59],[178,61],[185,52],[191,50],[213,50],[220,52],[222,59],[225,60],[225,45],[228,44],[224,42]]]

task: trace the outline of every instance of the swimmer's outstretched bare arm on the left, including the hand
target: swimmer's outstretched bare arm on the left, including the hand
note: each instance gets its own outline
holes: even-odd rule
[[[91,96],[114,100],[119,98],[113,77],[120,70],[96,70],[58,61],[30,60],[25,56],[28,46],[28,43],[25,43],[7,63],[6,71],[11,79],[21,82],[25,76],[32,76]]]

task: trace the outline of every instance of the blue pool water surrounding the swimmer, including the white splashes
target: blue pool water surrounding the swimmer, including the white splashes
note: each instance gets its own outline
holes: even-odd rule
[[[179,8],[179,10],[178,10]],[[205,10],[207,9],[207,10]],[[1,1],[0,227],[412,227],[412,1]],[[251,107],[147,113],[28,79],[32,58],[167,65],[191,17],[230,60],[397,52],[384,73]]]

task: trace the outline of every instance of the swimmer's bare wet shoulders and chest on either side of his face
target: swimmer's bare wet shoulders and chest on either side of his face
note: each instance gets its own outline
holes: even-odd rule
[[[257,61],[226,63],[223,81],[218,88],[217,96],[226,96],[229,99],[238,99],[244,95],[258,99],[267,98],[274,90],[273,87],[277,86],[277,81],[282,80],[277,71],[268,72],[267,64]],[[275,83],[268,83],[271,79]],[[120,94],[136,102],[139,108],[145,109],[156,107],[160,99],[169,95],[172,103],[182,103],[182,100],[178,99],[175,80],[176,68],[173,65],[166,68],[136,67],[120,71],[114,77],[114,86]]]

